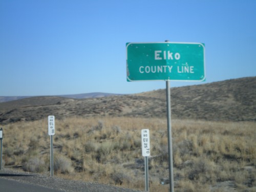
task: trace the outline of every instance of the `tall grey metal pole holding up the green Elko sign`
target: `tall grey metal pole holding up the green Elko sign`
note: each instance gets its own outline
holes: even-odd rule
[[[167,100],[167,132],[168,132],[169,184],[170,184],[169,191],[174,192],[172,122],[170,118],[170,81],[166,81],[166,100]]]

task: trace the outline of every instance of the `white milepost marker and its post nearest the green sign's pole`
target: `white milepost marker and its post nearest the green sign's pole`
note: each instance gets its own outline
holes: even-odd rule
[[[148,183],[148,156],[150,156],[150,130],[141,130],[142,156],[145,157],[145,191],[149,191]]]

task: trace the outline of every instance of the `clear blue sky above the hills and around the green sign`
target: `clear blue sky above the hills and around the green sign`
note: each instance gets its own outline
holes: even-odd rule
[[[203,42],[206,81],[256,76],[255,0],[2,0],[0,96],[140,93],[126,42]]]

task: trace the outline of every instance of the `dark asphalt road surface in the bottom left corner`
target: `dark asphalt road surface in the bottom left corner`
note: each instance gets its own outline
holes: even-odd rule
[[[61,190],[22,183],[14,180],[0,179],[0,191],[6,192],[61,192]],[[62,191],[63,192],[63,191]]]

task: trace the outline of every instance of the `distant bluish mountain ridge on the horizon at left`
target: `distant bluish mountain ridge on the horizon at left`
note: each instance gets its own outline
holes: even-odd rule
[[[82,94],[71,94],[71,95],[54,95],[56,97],[67,97],[73,99],[86,99],[86,98],[99,98],[99,97],[109,97],[114,95],[121,95],[121,94],[113,94],[113,93],[82,93]],[[25,99],[29,97],[39,97],[39,96],[0,96],[0,102],[8,102],[18,99]]]

